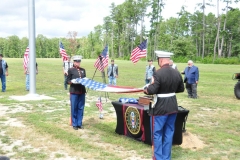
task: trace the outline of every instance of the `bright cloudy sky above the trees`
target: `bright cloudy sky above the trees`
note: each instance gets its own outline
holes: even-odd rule
[[[1,0],[0,37],[16,35],[28,37],[28,1]],[[76,31],[78,37],[87,36],[94,27],[103,24],[103,18],[110,15],[110,5],[122,4],[125,0],[35,0],[35,32],[48,38],[66,37],[69,31]],[[208,0],[205,0],[207,2]],[[216,1],[216,0],[214,0]],[[193,13],[202,0],[164,0],[162,16],[177,17],[181,6]],[[240,8],[239,4],[231,4]],[[223,5],[220,5],[223,8]],[[199,9],[199,8],[198,8]],[[215,7],[207,7],[206,12],[217,13]],[[222,11],[220,11],[222,13]],[[147,22],[146,22],[147,23]],[[147,24],[146,24],[147,25]]]

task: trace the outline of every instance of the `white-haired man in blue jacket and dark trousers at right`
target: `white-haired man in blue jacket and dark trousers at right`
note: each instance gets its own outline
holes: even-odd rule
[[[188,98],[198,98],[197,96],[197,84],[199,80],[198,67],[193,65],[193,61],[188,61],[188,67],[182,72],[184,74],[184,82],[186,83],[186,89],[188,92]]]

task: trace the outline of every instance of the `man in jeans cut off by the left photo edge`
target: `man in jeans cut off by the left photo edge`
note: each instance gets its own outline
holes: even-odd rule
[[[2,59],[3,55],[0,54],[0,78],[2,82],[2,92],[6,91],[6,76],[8,76],[8,65],[5,60]]]

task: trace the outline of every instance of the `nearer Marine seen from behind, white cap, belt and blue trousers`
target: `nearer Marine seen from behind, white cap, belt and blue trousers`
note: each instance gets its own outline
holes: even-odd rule
[[[178,104],[175,93],[184,91],[181,74],[169,66],[173,53],[155,51],[161,69],[153,75],[153,81],[144,89],[148,95],[156,95],[156,103],[149,110],[153,159],[170,160],[172,140]]]

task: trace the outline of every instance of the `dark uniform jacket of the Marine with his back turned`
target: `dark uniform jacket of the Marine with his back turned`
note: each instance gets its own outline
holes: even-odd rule
[[[171,66],[163,65],[154,75],[154,83],[147,88],[148,94],[169,94],[184,91],[183,79],[179,71]],[[158,97],[154,108],[149,111],[150,115],[166,115],[178,112],[176,95],[170,97]]]

